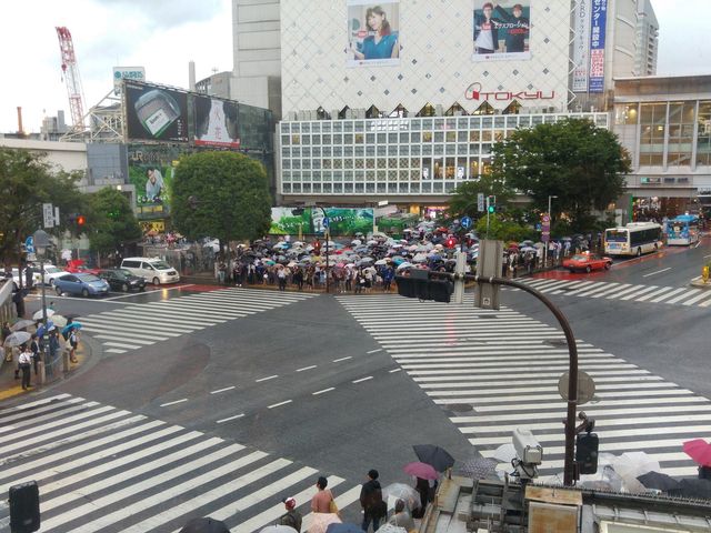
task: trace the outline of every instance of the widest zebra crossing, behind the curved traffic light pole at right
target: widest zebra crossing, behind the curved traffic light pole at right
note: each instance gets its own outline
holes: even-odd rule
[[[541,474],[562,472],[565,402],[558,380],[569,361],[562,332],[511,309],[474,309],[470,295],[461,305],[387,295],[338,300],[483,456],[527,428],[544,450]],[[597,384],[593,401],[580,409],[597,422],[600,451],[644,451],[670,475],[695,475],[681,446],[711,438],[711,401],[584,341],[578,352]]]

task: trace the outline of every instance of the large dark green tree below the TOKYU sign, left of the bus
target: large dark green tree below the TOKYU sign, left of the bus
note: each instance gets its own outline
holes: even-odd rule
[[[555,195],[555,213],[565,212],[574,229],[590,223],[624,192],[630,159],[617,137],[589,120],[569,119],[517,130],[493,147],[491,173],[527,193],[540,211]]]

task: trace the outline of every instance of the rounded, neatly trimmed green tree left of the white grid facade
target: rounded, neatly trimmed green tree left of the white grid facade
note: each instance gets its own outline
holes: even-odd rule
[[[234,152],[199,152],[180,159],[171,199],[173,224],[189,239],[252,240],[271,224],[264,168]]]

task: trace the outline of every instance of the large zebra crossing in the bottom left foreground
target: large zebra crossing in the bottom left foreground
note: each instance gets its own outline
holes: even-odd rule
[[[0,491],[36,480],[42,532],[173,532],[193,516],[251,533],[293,496],[309,511],[320,473],[259,450],[70,394],[0,410]],[[360,485],[327,476],[339,509]],[[9,529],[0,502],[0,531]],[[304,517],[308,529],[310,516]]]

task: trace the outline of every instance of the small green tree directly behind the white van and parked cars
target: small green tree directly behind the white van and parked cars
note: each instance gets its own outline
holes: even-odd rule
[[[122,243],[141,237],[141,227],[129,200],[116,189],[106,188],[90,195],[84,231],[91,250],[113,252]]]

